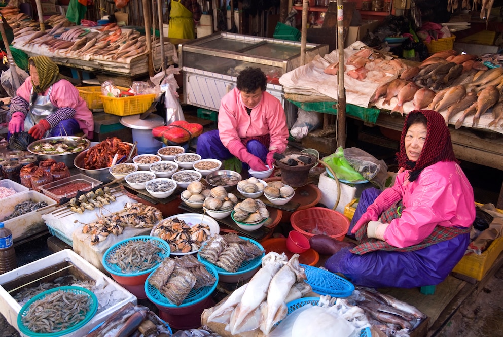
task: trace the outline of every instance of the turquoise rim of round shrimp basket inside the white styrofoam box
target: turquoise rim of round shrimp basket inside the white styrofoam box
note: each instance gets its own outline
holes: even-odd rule
[[[74,326],[72,326],[70,328],[67,328],[67,329],[64,329],[61,331],[57,331],[57,332],[38,333],[38,332],[31,331],[27,326],[25,326],[23,324],[23,321],[22,321],[23,316],[25,316],[28,313],[30,306],[33,305],[33,303],[35,301],[37,301],[39,299],[43,299],[47,295],[49,295],[53,292],[59,291],[59,290],[62,290],[64,292],[73,292],[76,294],[87,295],[87,297],[90,299],[90,303],[89,303],[89,310],[87,311],[84,319],[82,319],[81,321],[79,321],[77,324],[75,324]],[[62,299],[61,299],[61,301],[62,301]],[[19,331],[27,336],[32,336],[32,337],[62,336],[62,335],[65,335],[65,334],[68,334],[70,332],[73,332],[73,331],[80,329],[82,326],[84,326],[87,322],[89,322],[93,318],[93,316],[96,314],[97,311],[98,311],[98,298],[90,290],[87,290],[86,288],[82,288],[82,287],[76,287],[76,286],[57,287],[57,288],[53,288],[53,289],[49,289],[47,291],[44,291],[44,292],[34,296],[33,298],[31,298],[29,301],[27,301],[24,304],[24,306],[21,308],[21,310],[19,311],[19,314],[17,316],[17,325],[18,325]]]

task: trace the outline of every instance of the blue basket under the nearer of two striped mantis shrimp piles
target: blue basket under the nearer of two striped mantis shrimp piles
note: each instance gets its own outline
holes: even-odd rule
[[[215,283],[211,286],[206,286],[206,287],[201,287],[198,289],[192,289],[187,297],[185,297],[184,301],[182,302],[181,305],[177,306],[169,301],[166,296],[161,294],[159,289],[154,287],[149,283],[149,279],[152,276],[152,274],[149,275],[147,278],[147,281],[145,281],[145,293],[147,294],[147,298],[150,299],[156,306],[161,306],[161,307],[166,307],[166,308],[183,308],[183,307],[189,307],[192,305],[197,304],[198,302],[206,299],[208,296],[211,295],[213,290],[217,288],[217,284],[219,283],[219,275],[217,273],[217,269],[213,267],[211,264],[207,262],[201,261],[202,264],[204,264],[204,267],[208,271],[209,274],[211,274],[215,278]]]

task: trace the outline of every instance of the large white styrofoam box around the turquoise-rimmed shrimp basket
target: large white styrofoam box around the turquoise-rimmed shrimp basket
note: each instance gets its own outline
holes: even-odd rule
[[[55,266],[61,262],[68,262],[75,265],[84,274],[86,274],[89,279],[92,279],[94,281],[104,279],[105,283],[108,283],[116,288],[114,293],[119,291],[123,294],[123,296],[121,297],[124,297],[123,300],[121,300],[114,306],[111,306],[109,308],[101,308],[86,325],[73,333],[65,334],[65,336],[83,337],[93,327],[109,318],[112,314],[121,309],[128,302],[132,302],[132,304],[134,305],[137,304],[137,299],[133,294],[121,287],[110,277],[100,272],[96,267],[84,260],[71,249],[64,249],[47,257],[41,258],[37,261],[26,264],[22,267],[16,268],[13,271],[0,275],[0,313],[2,313],[7,322],[9,322],[9,324],[11,324],[18,331],[19,328],[17,326],[17,316],[19,314],[19,311],[21,310],[21,306],[6,291],[6,289],[4,289],[3,285],[16,279],[22,279],[23,282],[26,281],[26,283],[28,283],[30,281],[33,281],[32,278],[35,279],[32,274],[37,273],[38,271],[42,271],[43,269],[49,268],[51,266]],[[36,285],[37,283],[34,283],[34,286]]]

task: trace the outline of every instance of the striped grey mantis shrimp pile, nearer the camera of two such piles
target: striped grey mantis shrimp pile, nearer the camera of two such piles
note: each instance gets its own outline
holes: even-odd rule
[[[192,255],[165,258],[148,282],[171,303],[179,306],[192,289],[213,285],[217,281],[204,264]]]

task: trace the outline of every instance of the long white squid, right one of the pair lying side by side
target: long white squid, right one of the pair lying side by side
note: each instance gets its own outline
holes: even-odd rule
[[[267,291],[267,301],[260,306],[262,313],[260,329],[265,335],[269,334],[274,324],[286,316],[288,308],[284,300],[295,281],[305,279],[304,268],[299,265],[299,254],[294,254],[288,263],[274,275]]]

